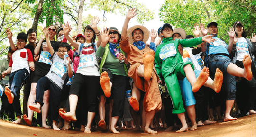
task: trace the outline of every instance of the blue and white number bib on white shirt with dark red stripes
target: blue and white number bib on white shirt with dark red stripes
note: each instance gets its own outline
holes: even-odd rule
[[[93,55],[82,55],[79,59],[79,64],[77,69],[82,69],[84,67],[94,66]]]

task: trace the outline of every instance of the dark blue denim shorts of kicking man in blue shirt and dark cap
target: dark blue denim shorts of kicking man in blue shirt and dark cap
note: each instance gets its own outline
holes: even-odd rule
[[[227,67],[232,63],[229,57],[224,55],[211,55],[207,61],[209,65],[209,70],[212,73],[216,72],[216,68],[219,68],[223,73],[223,84],[222,91],[225,90],[227,93],[226,100],[235,100],[236,99],[236,79],[235,76],[230,75],[227,72]]]

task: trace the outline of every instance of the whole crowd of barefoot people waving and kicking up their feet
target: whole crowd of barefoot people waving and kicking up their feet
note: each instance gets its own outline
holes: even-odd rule
[[[195,24],[194,36],[169,23],[157,31],[128,29],[136,11],[128,10],[121,33],[114,26],[99,31],[94,17],[83,34],[70,37],[66,22],[43,28],[39,41],[32,28],[18,33],[15,45],[7,28],[10,47],[0,62],[2,119],[16,115],[15,124],[23,117],[28,126],[54,130],[134,128],[157,134],[154,128],[184,132],[256,113],[256,37],[248,39],[241,22],[227,31],[226,44],[217,37],[216,22]]]

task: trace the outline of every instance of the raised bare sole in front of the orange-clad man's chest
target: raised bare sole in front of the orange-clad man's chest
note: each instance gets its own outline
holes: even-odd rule
[[[150,50],[143,54],[143,65],[144,65],[144,79],[150,80],[155,60],[155,52]]]

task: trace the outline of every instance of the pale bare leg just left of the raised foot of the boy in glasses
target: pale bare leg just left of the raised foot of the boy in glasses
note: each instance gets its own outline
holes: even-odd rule
[[[31,126],[32,118],[34,115],[34,111],[30,110],[28,106],[33,105],[33,102],[35,102],[35,100],[36,100],[36,86],[37,86],[37,83],[31,83],[31,90],[30,90],[30,94],[29,94],[29,97],[27,100],[27,115],[28,115],[28,117],[26,116],[26,120],[25,120],[25,118],[23,116],[23,119],[27,123],[28,126]]]

